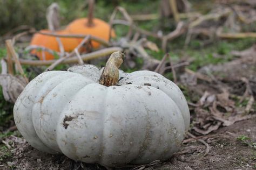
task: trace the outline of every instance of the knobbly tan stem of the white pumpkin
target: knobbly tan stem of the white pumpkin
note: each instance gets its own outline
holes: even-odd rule
[[[110,55],[106,66],[103,69],[102,75],[99,78],[99,83],[104,86],[114,86],[119,79],[119,67],[122,65],[124,53],[117,51]]]

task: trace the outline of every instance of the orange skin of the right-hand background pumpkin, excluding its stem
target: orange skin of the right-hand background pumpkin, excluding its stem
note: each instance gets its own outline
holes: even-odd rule
[[[93,18],[93,26],[87,26],[87,18],[79,18],[71,22],[65,30],[71,34],[90,34],[108,41],[110,26],[98,18]],[[116,37],[113,30],[111,32],[111,37]],[[79,38],[78,42],[80,43],[82,40],[82,38]],[[99,46],[100,44],[98,42],[92,41],[92,47],[98,48]]]

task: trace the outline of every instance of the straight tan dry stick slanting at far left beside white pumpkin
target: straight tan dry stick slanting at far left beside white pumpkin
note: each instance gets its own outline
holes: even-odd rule
[[[15,52],[14,46],[12,46],[12,41],[6,40],[5,43],[6,43],[6,48],[10,52],[12,58],[14,59],[16,65],[17,65],[17,69],[18,69],[19,73],[21,73],[21,75],[24,77],[26,83],[29,83],[29,79],[26,77],[26,75],[22,69],[21,63],[19,62],[19,59],[18,59],[17,53]]]

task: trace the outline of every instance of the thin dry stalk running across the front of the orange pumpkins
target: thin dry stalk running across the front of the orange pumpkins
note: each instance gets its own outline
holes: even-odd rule
[[[89,34],[56,34],[56,33],[48,33],[48,32],[41,32],[41,31],[38,31],[36,33],[46,35],[46,36],[64,37],[64,38],[85,38],[86,36],[90,36],[91,40],[96,41],[96,42],[98,42],[99,44],[102,44],[105,47],[110,46],[109,42],[107,42],[106,40],[104,40],[102,38],[99,38],[99,37],[91,36]]]

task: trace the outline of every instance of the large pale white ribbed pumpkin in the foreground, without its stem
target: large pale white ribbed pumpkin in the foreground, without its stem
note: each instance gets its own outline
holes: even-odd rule
[[[110,87],[92,65],[38,75],[15,103],[18,130],[40,151],[107,167],[169,159],[190,125],[183,93],[154,72],[119,74]]]

